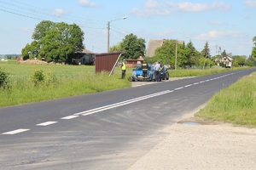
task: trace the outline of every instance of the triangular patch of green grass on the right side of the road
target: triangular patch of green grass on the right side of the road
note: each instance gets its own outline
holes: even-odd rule
[[[195,116],[256,127],[256,73],[215,94]]]

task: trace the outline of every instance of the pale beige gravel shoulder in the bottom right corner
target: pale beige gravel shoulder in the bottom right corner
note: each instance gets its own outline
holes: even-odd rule
[[[185,124],[184,122],[195,122]],[[184,116],[128,170],[256,169],[256,128]]]

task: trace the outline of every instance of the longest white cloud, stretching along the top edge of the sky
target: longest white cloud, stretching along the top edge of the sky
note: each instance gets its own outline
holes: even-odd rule
[[[229,9],[230,4],[227,3],[172,3],[170,0],[166,2],[148,0],[144,3],[143,8],[133,8],[131,14],[148,17],[155,15],[169,15],[174,12],[199,13],[211,10],[227,11]]]

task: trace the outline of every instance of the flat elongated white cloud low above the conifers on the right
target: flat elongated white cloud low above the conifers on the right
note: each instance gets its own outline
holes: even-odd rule
[[[209,31],[203,33],[197,37],[201,40],[217,39],[217,38],[227,38],[227,37],[241,37],[236,31]]]

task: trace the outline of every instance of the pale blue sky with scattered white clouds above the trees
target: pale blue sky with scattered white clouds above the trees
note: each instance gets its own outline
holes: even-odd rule
[[[252,52],[256,36],[256,0],[0,0],[0,54],[21,54],[42,20],[76,24],[84,46],[108,51],[128,34],[146,41],[178,39],[193,42],[211,55]],[[124,17],[127,17],[125,20]]]

